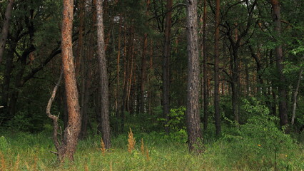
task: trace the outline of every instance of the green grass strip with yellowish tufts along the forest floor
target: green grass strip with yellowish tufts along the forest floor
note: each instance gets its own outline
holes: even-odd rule
[[[278,152],[275,166],[271,152],[258,154],[247,146],[246,150],[237,150],[242,143],[238,141],[210,141],[204,152],[196,155],[188,152],[186,143],[172,142],[161,133],[134,132],[136,150],[131,153],[128,135],[113,138],[112,148],[105,155],[100,150],[100,136],[92,136],[78,143],[74,162],[59,164],[56,155],[49,152],[55,151],[51,133],[1,135],[0,170],[304,170],[304,151],[299,144],[288,152]],[[141,153],[141,138],[148,157]]]

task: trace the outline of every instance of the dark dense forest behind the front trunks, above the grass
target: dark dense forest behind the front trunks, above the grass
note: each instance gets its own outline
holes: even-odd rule
[[[257,136],[269,147],[278,145],[277,154],[285,142],[303,142],[304,1],[197,1],[198,68],[189,65],[186,36],[194,2],[104,0],[102,61],[96,36],[101,26],[98,1],[74,1],[71,40],[79,140],[104,131],[116,138],[131,128],[186,143],[192,128],[187,116],[198,110],[201,135],[195,136],[202,144]],[[63,68],[64,10],[63,1],[57,0],[0,2],[1,133],[51,135],[46,106]],[[199,106],[190,110],[187,83],[197,69],[193,83]],[[107,103],[103,83],[108,86]],[[51,105],[60,130],[69,125],[67,98],[61,83]],[[105,143],[110,147],[110,136]]]

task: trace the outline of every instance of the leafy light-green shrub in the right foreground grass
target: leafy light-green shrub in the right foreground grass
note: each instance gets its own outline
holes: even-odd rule
[[[256,100],[249,103],[244,100],[243,108],[249,115],[248,123],[235,129],[235,134],[224,134],[223,140],[230,142],[228,156],[237,161],[240,170],[260,167],[260,169],[291,170],[293,165],[290,157],[297,145],[290,135],[283,133],[275,123],[278,118],[269,115],[269,110]],[[233,133],[233,131],[231,131]],[[243,163],[243,165],[240,165]],[[244,165],[244,163],[246,165]]]

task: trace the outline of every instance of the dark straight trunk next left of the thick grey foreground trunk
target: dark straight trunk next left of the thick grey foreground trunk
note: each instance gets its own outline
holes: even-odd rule
[[[168,122],[168,115],[170,113],[170,43],[171,43],[171,23],[172,23],[172,0],[167,0],[166,4],[166,24],[165,24],[165,41],[163,43],[163,116]],[[168,133],[168,127],[165,128]]]

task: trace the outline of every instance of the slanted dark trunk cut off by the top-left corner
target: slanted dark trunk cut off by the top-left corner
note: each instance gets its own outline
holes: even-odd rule
[[[6,6],[4,23],[2,26],[1,37],[0,37],[0,63],[2,62],[3,53],[5,49],[6,39],[9,35],[9,21],[11,20],[11,11],[13,11],[14,0],[9,0],[9,4]]]

